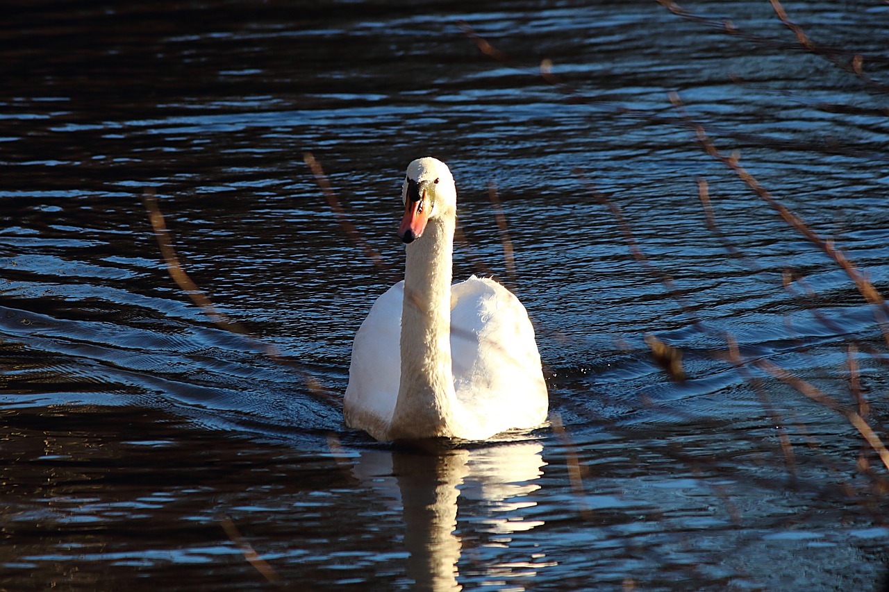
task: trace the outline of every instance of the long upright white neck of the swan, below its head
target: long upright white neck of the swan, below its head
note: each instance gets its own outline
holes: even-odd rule
[[[428,221],[406,245],[401,377],[392,439],[453,434],[456,396],[451,368],[453,217]]]

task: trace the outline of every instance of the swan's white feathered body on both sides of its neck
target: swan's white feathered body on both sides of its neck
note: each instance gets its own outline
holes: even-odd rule
[[[346,422],[388,440],[401,375],[398,356],[404,282],[373,304],[358,329],[346,389]],[[451,364],[456,415],[466,440],[510,428],[535,428],[549,406],[541,357],[525,307],[491,279],[469,277],[451,289]]]

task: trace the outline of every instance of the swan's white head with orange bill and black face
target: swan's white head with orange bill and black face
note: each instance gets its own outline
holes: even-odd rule
[[[401,201],[404,218],[398,227],[398,236],[405,243],[420,238],[429,220],[455,216],[457,188],[447,164],[431,156],[408,164]]]

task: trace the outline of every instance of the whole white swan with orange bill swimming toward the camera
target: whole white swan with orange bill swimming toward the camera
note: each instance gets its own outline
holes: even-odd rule
[[[549,400],[525,307],[492,279],[451,285],[457,189],[447,165],[409,164],[402,203],[404,280],[356,332],[346,425],[381,442],[485,440],[541,426]]]

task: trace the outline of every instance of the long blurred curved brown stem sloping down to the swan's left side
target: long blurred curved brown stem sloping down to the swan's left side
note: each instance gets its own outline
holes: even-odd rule
[[[179,255],[176,253],[176,248],[172,244],[170,231],[167,229],[166,220],[164,219],[164,213],[161,212],[160,205],[157,203],[157,196],[154,188],[146,188],[143,191],[142,203],[145,205],[145,209],[148,212],[148,221],[151,222],[151,228],[154,230],[155,240],[160,249],[161,257],[164,259],[164,266],[167,269],[167,273],[172,277],[173,282],[180,287],[180,290],[185,292],[188,298],[196,304],[197,308],[200,308],[204,315],[209,316],[212,323],[220,329],[244,337],[244,339],[250,341],[252,345],[260,348],[266,356],[277,364],[286,364],[292,368],[292,370],[298,372],[301,380],[303,380],[306,388],[308,388],[308,391],[313,396],[324,400],[328,404],[332,404],[334,407],[341,406],[342,402],[340,397],[333,395],[328,388],[325,388],[324,385],[316,379],[316,377],[308,374],[308,372],[302,371],[290,360],[284,359],[284,357],[281,356],[281,350],[276,348],[276,346],[254,337],[251,332],[244,328],[244,326],[231,320],[225,313],[216,308],[212,303],[212,300],[210,300],[204,291],[201,290],[200,286],[188,276],[185,268],[182,267]]]

